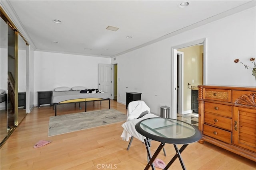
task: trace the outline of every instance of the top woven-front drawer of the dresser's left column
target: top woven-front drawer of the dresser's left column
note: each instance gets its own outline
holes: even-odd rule
[[[203,99],[231,102],[231,90],[204,88]]]

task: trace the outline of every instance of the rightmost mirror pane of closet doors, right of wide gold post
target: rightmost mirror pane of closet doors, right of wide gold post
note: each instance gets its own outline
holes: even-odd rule
[[[18,35],[18,124],[26,116],[26,42]]]

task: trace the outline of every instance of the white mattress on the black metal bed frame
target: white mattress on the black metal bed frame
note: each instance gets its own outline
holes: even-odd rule
[[[66,100],[71,99],[81,99],[81,98],[109,98],[108,93],[80,93],[80,90],[70,90],[70,91],[62,91],[62,92],[52,92],[52,103],[59,103]]]

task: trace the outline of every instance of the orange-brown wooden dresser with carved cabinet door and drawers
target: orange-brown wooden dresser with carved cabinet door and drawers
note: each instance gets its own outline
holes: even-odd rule
[[[256,162],[256,88],[199,86],[198,103],[199,142]]]

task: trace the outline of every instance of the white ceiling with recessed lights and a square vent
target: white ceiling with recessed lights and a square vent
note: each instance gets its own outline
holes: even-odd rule
[[[115,57],[256,4],[255,0],[190,0],[180,8],[182,2],[1,0],[1,6],[36,51]],[[110,31],[108,26],[119,29]]]

